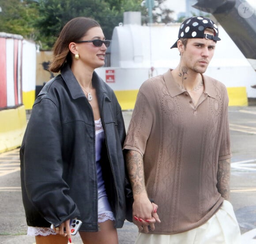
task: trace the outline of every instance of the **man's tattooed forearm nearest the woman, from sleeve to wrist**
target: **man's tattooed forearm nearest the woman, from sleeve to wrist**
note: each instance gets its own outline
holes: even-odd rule
[[[126,164],[133,194],[142,193],[145,190],[142,155],[134,150],[128,150],[126,154]]]

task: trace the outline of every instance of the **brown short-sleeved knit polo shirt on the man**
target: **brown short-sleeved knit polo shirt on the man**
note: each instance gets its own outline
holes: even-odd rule
[[[203,75],[196,107],[170,70],[139,89],[124,149],[143,155],[148,196],[161,223],[151,233],[194,229],[218,210],[218,160],[231,157],[226,87]]]

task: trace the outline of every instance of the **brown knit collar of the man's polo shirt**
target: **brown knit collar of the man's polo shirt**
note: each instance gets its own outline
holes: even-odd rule
[[[169,94],[171,95],[171,97],[175,97],[177,95],[184,93],[184,91],[181,90],[178,84],[174,81],[171,71],[172,69],[168,69],[168,71],[164,73],[163,76],[164,76],[164,80],[166,83],[166,87],[169,91]],[[203,84],[204,84],[203,92],[212,98],[216,98],[217,94],[215,91],[213,79],[203,74],[202,74],[202,78],[203,78]]]

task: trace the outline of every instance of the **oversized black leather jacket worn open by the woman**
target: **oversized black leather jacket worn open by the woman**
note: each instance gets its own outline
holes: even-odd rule
[[[122,153],[124,120],[113,90],[95,72],[92,82],[106,137],[102,173],[115,227],[121,228],[128,184]],[[94,116],[68,65],[37,96],[20,149],[20,161],[29,226],[60,226],[67,219],[78,218],[83,221],[80,230],[98,230]]]

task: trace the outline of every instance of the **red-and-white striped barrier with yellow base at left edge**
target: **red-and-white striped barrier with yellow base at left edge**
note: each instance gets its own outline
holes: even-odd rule
[[[0,33],[0,153],[19,147],[26,128],[22,55],[23,37]]]

